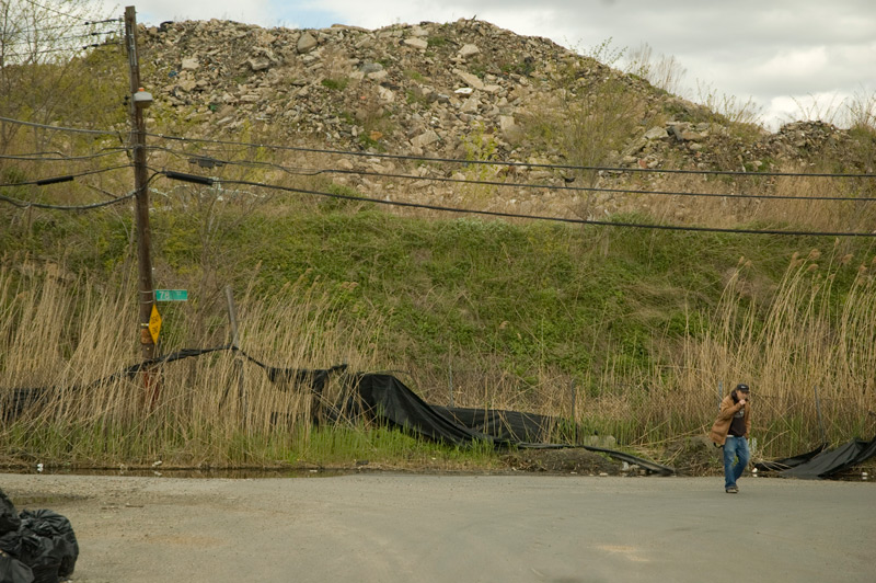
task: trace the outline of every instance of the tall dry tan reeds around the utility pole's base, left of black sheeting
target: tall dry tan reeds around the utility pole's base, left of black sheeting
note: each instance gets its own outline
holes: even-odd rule
[[[0,432],[3,450],[102,466],[157,459],[264,464],[300,451],[314,405],[307,389],[270,382],[230,351],[114,376],[131,364],[136,318],[129,298],[136,294],[111,285],[104,289],[114,292],[100,294],[84,276],[39,271],[0,272],[3,388],[50,388],[42,404]],[[318,286],[288,287],[274,299],[241,299],[240,334],[249,354],[280,368],[324,368],[326,362],[373,368],[369,339],[379,322],[343,324],[333,297]],[[215,335],[196,339],[195,346],[211,342]],[[11,393],[3,398],[8,405]]]

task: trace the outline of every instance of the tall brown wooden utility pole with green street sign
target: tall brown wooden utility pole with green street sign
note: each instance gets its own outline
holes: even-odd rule
[[[130,68],[130,95],[128,100],[131,145],[134,147],[134,186],[137,191],[137,258],[139,271],[139,342],[145,361],[155,356],[155,344],[149,333],[149,319],[155,292],[152,285],[151,233],[149,230],[149,188],[146,168],[146,124],[143,106],[138,105],[135,95],[140,90],[140,61],[137,56],[137,13],[134,7],[125,8],[125,47]],[[145,104],[143,104],[145,105]]]

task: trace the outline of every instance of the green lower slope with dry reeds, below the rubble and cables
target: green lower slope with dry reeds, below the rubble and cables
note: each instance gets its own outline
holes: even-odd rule
[[[353,199],[295,212],[270,204],[155,214],[159,285],[193,290],[189,304],[161,307],[162,353],[228,342],[215,290],[230,283],[241,345],[263,362],[407,370],[406,382],[437,403],[452,368],[457,404],[574,418],[627,447],[702,433],[719,388],[739,379],[757,387],[764,455],[820,439],[815,387],[830,438],[874,428],[876,293],[865,242],[403,218]],[[205,221],[221,237],[208,237]],[[129,222],[45,213],[8,224],[3,388],[88,384],[130,364]],[[64,262],[46,263],[45,250],[61,244]],[[151,411],[137,381],[64,393],[5,427],[0,443],[79,465],[476,462],[379,427],[313,433],[301,393],[252,369],[239,389],[239,366],[220,354],[165,367]],[[222,399],[239,390],[249,404]],[[273,425],[276,412],[288,426]]]

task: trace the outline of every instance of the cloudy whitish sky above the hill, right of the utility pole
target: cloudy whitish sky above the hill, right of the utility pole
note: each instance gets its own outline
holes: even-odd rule
[[[876,92],[876,0],[140,0],[137,20],[227,19],[265,27],[452,22],[476,16],[589,53],[607,39],[684,69],[679,93],[757,103],[775,129]],[[616,66],[621,66],[619,61]],[[702,89],[698,90],[698,85]],[[812,103],[815,99],[815,103]],[[845,103],[849,103],[848,101]],[[873,106],[873,103],[871,103]]]

